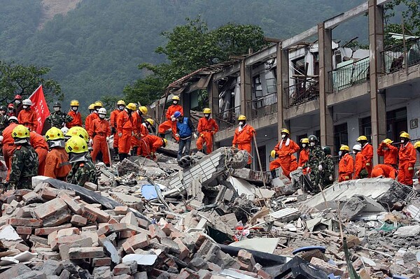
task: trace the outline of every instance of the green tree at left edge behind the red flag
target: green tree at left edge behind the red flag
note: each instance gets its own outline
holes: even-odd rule
[[[0,61],[0,103],[11,102],[16,94],[24,99],[29,97],[39,85],[42,85],[45,97],[51,100],[53,97],[62,100],[64,95],[60,85],[44,76],[50,71],[49,68],[34,65],[24,66],[8,64]]]

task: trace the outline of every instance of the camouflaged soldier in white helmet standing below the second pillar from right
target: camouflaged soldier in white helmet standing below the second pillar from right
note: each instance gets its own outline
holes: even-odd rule
[[[321,146],[318,145],[318,138],[314,135],[309,139],[309,160],[304,164],[304,168],[309,167],[309,178],[311,179],[311,188],[314,192],[319,192],[319,183],[321,183],[321,171],[323,171],[323,162],[325,159]]]

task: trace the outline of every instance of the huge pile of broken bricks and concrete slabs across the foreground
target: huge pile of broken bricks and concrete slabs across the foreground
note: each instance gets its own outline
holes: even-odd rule
[[[1,194],[0,279],[420,276],[412,188],[367,178],[309,195],[244,169],[246,152],[183,167],[162,152],[98,165],[99,185],[37,176]]]

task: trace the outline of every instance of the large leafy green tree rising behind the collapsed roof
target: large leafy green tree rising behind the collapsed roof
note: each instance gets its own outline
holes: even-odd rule
[[[167,44],[155,50],[166,55],[169,63],[139,64],[140,70],[147,69],[152,74],[127,85],[124,89],[126,99],[149,103],[161,96],[174,80],[192,71],[228,61],[232,55],[246,55],[250,48],[258,51],[267,45],[264,32],[255,25],[228,23],[209,30],[200,16],[186,20],[187,24],[163,32]]]

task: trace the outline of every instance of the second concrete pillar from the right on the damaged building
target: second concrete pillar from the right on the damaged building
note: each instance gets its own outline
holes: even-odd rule
[[[327,107],[327,94],[330,92],[330,78],[332,70],[332,30],[325,29],[324,23],[318,24],[319,46],[319,117],[321,128],[321,145],[328,145],[334,154],[334,124],[332,122],[332,108]]]

